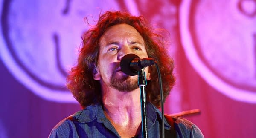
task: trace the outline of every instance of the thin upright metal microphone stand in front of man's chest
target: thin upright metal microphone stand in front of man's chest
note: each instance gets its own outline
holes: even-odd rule
[[[146,98],[146,75],[144,69],[138,71],[138,86],[140,88],[140,105],[141,105],[141,126],[142,126],[142,137],[148,138],[148,131],[147,131],[147,98]]]

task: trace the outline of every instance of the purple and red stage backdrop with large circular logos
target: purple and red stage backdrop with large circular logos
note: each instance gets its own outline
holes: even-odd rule
[[[46,138],[80,110],[65,87],[85,18],[145,16],[170,32],[177,83],[165,113],[186,116],[206,138],[255,138],[256,0],[0,0],[0,138]]]

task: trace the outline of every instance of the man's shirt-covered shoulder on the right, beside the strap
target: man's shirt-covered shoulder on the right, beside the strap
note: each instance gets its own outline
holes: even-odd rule
[[[201,130],[194,123],[180,117],[165,116],[166,120],[173,124],[177,135],[185,138],[204,138]],[[172,121],[172,122],[170,122]]]

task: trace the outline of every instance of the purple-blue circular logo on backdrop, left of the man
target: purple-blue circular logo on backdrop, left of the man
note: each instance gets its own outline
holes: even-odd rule
[[[128,4],[134,14],[133,1]],[[95,24],[101,12],[119,10],[119,3],[0,0],[0,7],[0,56],[12,75],[44,99],[76,102],[65,83],[67,71],[76,63],[81,35],[88,29],[83,19]]]

